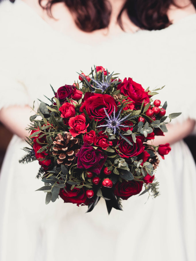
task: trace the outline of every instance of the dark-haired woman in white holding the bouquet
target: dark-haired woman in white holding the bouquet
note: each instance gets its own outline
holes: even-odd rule
[[[74,71],[88,73],[93,64],[132,77],[144,88],[166,85],[157,98],[168,101],[168,113],[182,111],[182,116],[154,141],[173,144],[157,170],[161,195],[146,204],[146,194],[132,197],[123,202],[123,212],[112,210],[109,216],[101,200],[88,214],[61,199],[45,206],[44,193],[34,192],[41,182],[35,179],[39,166],[19,165],[26,144],[15,135],[0,180],[1,260],[195,260],[196,168],[182,141],[196,119],[193,4],[40,4],[45,8],[32,0],[0,5],[0,120],[16,135],[28,135],[30,106],[36,98],[44,100],[43,94],[52,96],[49,84],[55,89],[72,84]]]

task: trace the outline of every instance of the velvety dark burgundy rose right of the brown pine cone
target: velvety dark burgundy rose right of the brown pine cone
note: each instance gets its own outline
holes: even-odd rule
[[[95,174],[99,174],[105,161],[107,155],[99,150],[94,149],[93,146],[84,142],[84,145],[80,148],[78,154],[77,168],[78,169],[88,169]]]

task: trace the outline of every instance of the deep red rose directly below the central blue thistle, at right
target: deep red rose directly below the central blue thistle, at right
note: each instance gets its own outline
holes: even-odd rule
[[[131,136],[126,136],[126,138],[130,140],[130,142],[133,145],[128,144],[128,142],[126,142],[126,140],[124,140],[123,138],[120,138],[120,140],[118,140],[118,150],[120,151],[120,155],[122,157],[130,158],[132,156],[137,156],[144,152],[145,147],[143,146],[143,141],[141,139],[137,137],[136,143],[134,143]]]

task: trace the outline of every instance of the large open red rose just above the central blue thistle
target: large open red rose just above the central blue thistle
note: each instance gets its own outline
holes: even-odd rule
[[[92,120],[101,121],[105,118],[106,114],[104,111],[107,111],[108,115],[111,115],[115,110],[117,111],[117,106],[115,100],[112,96],[108,94],[99,94],[99,93],[86,93],[84,96],[84,103],[80,107],[80,111],[83,112],[86,110],[89,118]]]

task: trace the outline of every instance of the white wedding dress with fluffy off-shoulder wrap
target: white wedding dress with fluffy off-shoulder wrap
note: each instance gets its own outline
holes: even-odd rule
[[[0,4],[0,24],[0,108],[32,106],[53,95],[49,84],[73,84],[76,71],[89,73],[95,64],[143,88],[166,85],[157,98],[167,100],[167,112],[182,112],[176,121],[196,119],[195,14],[93,45],[54,31],[21,0]],[[35,192],[43,185],[35,178],[38,162],[18,163],[24,146],[12,138],[1,170],[1,261],[196,260],[196,168],[183,140],[157,169],[160,196],[133,196],[109,216],[102,200],[90,213],[62,199],[45,205],[45,194]]]

